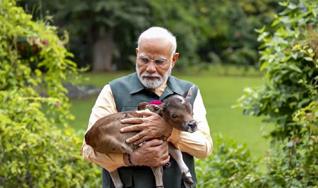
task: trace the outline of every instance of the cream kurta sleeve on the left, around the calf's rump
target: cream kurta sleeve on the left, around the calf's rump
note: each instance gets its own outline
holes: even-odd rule
[[[108,114],[117,113],[114,97],[110,89],[109,84],[107,84],[99,96],[97,97],[96,103],[92,109],[91,116],[88,122],[88,128],[86,132],[94,125],[94,123],[103,116]],[[103,154],[94,151],[91,146],[88,146],[83,140],[83,145],[81,148],[81,153],[89,162],[100,165],[107,171],[112,172],[121,166],[127,166],[123,161],[123,154]]]

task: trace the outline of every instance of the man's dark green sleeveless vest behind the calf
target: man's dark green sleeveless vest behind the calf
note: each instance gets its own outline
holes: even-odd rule
[[[138,104],[144,101],[160,100],[164,101],[173,94],[182,95],[186,92],[193,83],[189,81],[179,80],[174,76],[169,76],[167,87],[159,97],[154,92],[146,89],[139,81],[137,74],[133,73],[109,82],[112,93],[114,95],[115,104],[118,112],[125,112],[136,109]],[[197,87],[194,90],[190,104],[193,106],[194,99],[197,96]],[[197,183],[195,174],[193,156],[183,152],[183,160],[190,169],[192,179]],[[165,188],[190,188],[183,181],[181,171],[175,161],[170,156],[171,167],[163,169],[163,185]],[[123,166],[118,169],[121,181],[125,188],[154,188],[156,187],[155,176],[150,167]],[[109,173],[104,168],[102,169],[102,188],[115,188]],[[196,188],[196,186],[191,188]]]

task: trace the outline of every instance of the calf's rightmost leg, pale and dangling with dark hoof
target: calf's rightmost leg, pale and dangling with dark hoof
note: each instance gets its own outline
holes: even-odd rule
[[[180,150],[178,150],[175,146],[173,146],[171,144],[171,142],[168,142],[168,147],[169,147],[169,153],[170,155],[173,157],[173,159],[176,160],[176,162],[178,163],[178,166],[181,170],[182,173],[182,177],[184,179],[184,181],[190,185],[193,185],[194,182],[192,180],[192,176],[190,173],[190,170],[188,168],[188,166],[184,163],[183,158],[182,158],[182,153]]]

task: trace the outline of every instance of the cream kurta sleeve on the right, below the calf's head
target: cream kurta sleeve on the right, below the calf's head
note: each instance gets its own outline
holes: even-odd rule
[[[179,150],[196,158],[208,157],[213,151],[213,142],[205,115],[206,110],[198,89],[197,97],[193,103],[193,119],[197,121],[197,131],[188,133],[174,128],[168,141],[172,142]]]

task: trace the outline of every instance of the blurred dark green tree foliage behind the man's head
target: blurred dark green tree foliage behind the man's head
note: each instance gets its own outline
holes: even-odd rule
[[[60,30],[70,32],[69,47],[79,65],[97,63],[96,51],[105,48],[99,54],[119,70],[135,68],[136,40],[150,26],[163,26],[176,35],[180,53],[176,69],[187,70],[202,62],[257,67],[259,42],[254,29],[270,23],[279,10],[278,0],[23,2],[21,6],[28,4],[30,11],[33,6],[39,9],[33,13],[36,17],[50,11]],[[103,42],[105,36],[111,40]],[[111,64],[107,66],[110,69]]]

